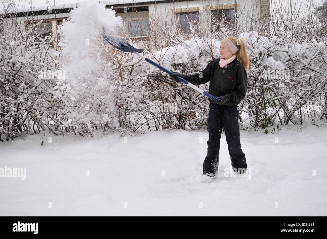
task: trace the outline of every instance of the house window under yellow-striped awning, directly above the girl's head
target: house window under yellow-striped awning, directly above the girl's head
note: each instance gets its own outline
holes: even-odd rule
[[[220,30],[221,27],[233,27],[235,23],[234,8],[214,9],[211,11],[211,23]]]

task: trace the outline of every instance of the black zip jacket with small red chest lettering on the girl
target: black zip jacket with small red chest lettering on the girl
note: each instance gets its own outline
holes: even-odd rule
[[[194,85],[205,84],[210,81],[209,94],[217,97],[225,95],[227,102],[224,105],[237,105],[245,97],[247,91],[247,72],[237,57],[223,68],[220,67],[219,61],[220,58],[211,61],[200,73],[187,75],[185,80]],[[199,77],[201,72],[202,78]],[[209,101],[214,104],[217,103],[212,99]]]

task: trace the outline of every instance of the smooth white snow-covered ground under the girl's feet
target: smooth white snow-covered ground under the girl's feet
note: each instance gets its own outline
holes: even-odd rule
[[[4,142],[0,169],[26,168],[26,179],[0,177],[0,216],[327,216],[327,128],[263,132],[241,131],[247,177],[224,176],[223,132],[209,184],[200,183],[207,131]]]

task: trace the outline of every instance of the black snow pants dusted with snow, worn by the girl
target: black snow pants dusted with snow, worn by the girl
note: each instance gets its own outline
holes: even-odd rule
[[[203,174],[212,173],[216,175],[218,172],[220,136],[223,127],[225,129],[232,168],[244,169],[248,167],[240,143],[237,106],[210,103],[208,115],[208,153],[203,162]]]

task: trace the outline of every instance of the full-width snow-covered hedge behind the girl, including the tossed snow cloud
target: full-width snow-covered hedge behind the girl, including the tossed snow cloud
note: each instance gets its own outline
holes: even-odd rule
[[[139,57],[117,51],[101,34],[123,36],[163,67],[194,74],[219,57],[220,40],[228,32],[183,36],[159,24],[156,34],[137,41],[124,35],[114,11],[94,2],[71,11],[53,51],[30,30],[15,28],[14,17],[0,21],[1,139],[41,129],[81,136],[207,129],[208,98]],[[246,41],[250,58],[248,92],[239,105],[242,129],[327,121],[326,38],[317,42],[303,36],[265,37],[254,31],[235,36]],[[199,87],[208,91],[209,83]]]

